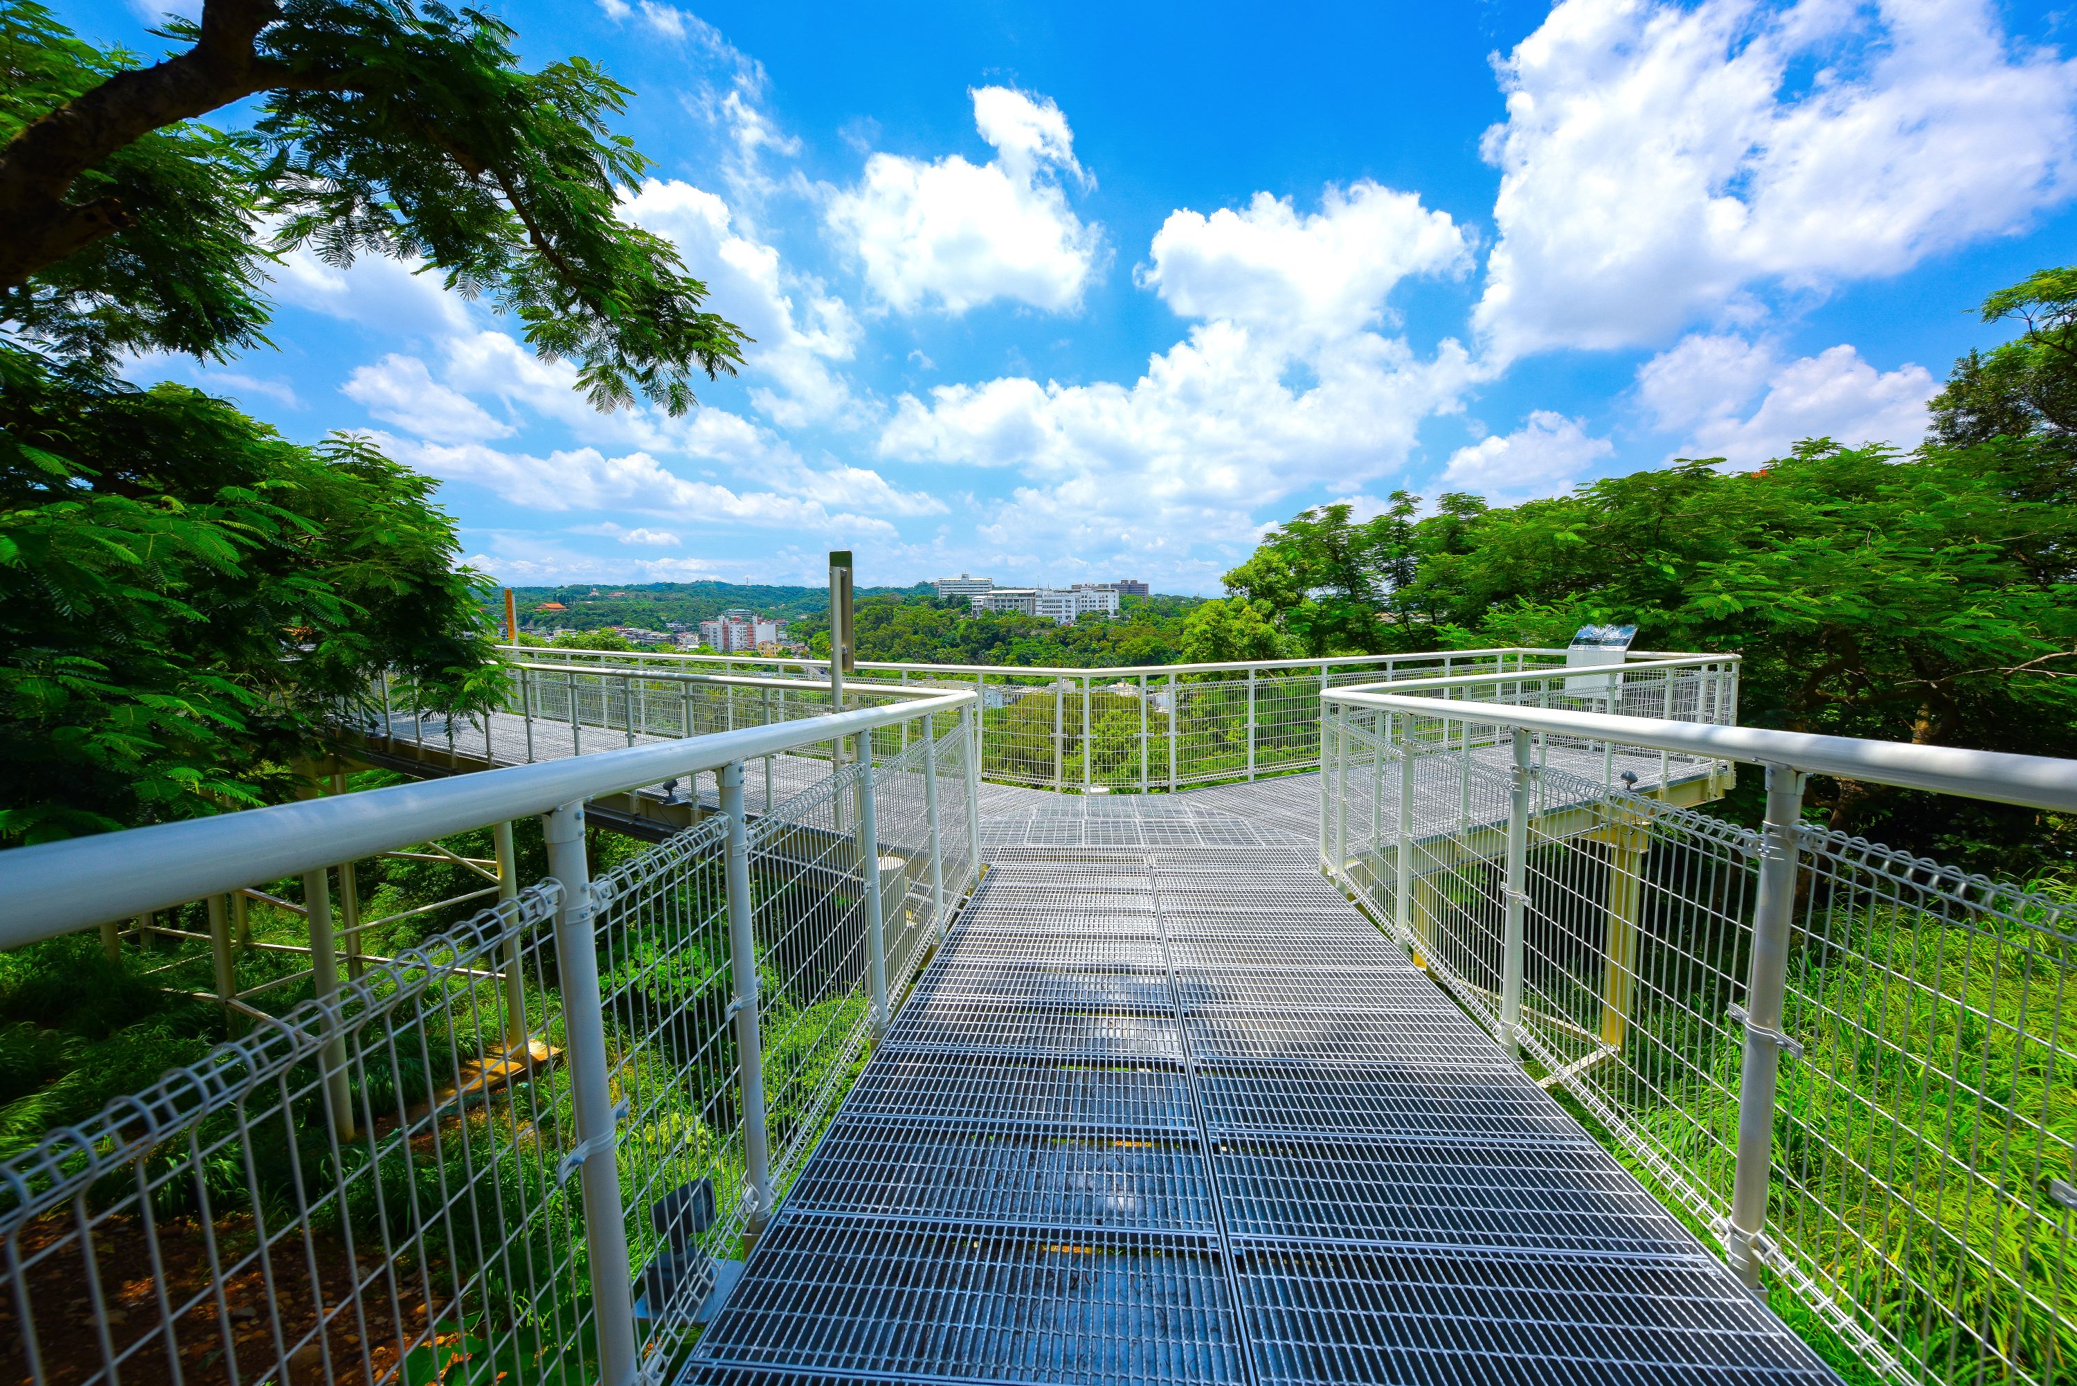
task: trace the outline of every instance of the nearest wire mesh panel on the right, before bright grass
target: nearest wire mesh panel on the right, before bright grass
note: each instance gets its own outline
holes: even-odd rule
[[[1917,1380],[2069,1380],[2077,908],[1799,837],[1774,1251]]]

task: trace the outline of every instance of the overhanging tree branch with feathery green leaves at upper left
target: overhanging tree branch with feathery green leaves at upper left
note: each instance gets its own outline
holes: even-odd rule
[[[640,393],[681,414],[692,372],[741,359],[671,243],[619,218],[648,160],[611,133],[627,89],[594,64],[523,71],[511,27],[444,4],[222,8],[208,31],[170,21],[193,48],[141,69],[0,4],[0,216],[21,231],[0,316],[25,343],[100,370],[249,347],[268,262],[307,245],[336,266],[420,258],[490,295],[602,409]],[[245,98],[247,129],[189,121]]]

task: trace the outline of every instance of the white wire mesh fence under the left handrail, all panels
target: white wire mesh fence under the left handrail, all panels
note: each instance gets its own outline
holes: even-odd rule
[[[613,1220],[650,1374],[862,1068],[874,977],[899,1002],[972,885],[968,731],[939,721],[590,883],[571,937],[596,950]],[[579,1141],[557,900],[555,881],[521,891],[0,1164],[6,1380],[598,1380],[579,1191],[604,1145]]]

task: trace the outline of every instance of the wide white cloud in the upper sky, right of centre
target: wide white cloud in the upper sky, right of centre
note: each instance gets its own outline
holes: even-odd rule
[[[1377,324],[1385,295],[1408,274],[1468,266],[1464,233],[1448,212],[1423,208],[1417,193],[1360,181],[1346,191],[1327,187],[1311,216],[1269,193],[1255,193],[1240,212],[1169,212],[1138,283],[1184,318],[1346,337]]]

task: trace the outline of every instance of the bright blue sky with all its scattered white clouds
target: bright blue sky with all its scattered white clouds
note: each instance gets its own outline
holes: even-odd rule
[[[152,0],[69,6],[152,52]],[[442,478],[505,582],[1147,578],[1398,486],[1495,503],[1909,447],[1971,305],[2071,260],[2058,12],[1975,0],[492,4],[600,60],[629,214],[756,339],[598,416],[395,262],[282,266],[199,382]]]

